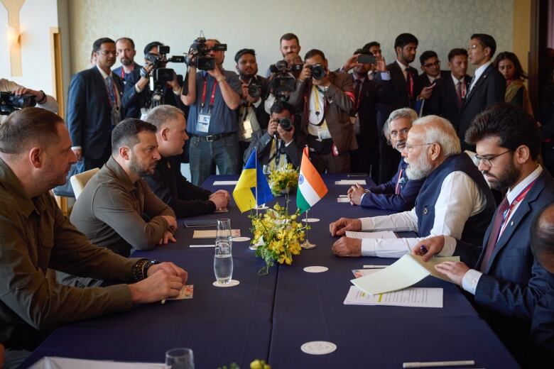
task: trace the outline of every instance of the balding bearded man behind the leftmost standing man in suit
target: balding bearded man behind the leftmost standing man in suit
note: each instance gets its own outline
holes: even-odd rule
[[[112,72],[123,79],[125,95],[128,89],[133,89],[136,82],[141,79],[141,66],[134,61],[136,55],[135,43],[131,38],[122,37],[116,40],[116,52],[120,67],[116,67]],[[125,118],[140,118],[140,104],[127,104],[124,106]]]

